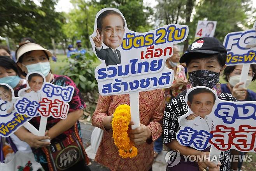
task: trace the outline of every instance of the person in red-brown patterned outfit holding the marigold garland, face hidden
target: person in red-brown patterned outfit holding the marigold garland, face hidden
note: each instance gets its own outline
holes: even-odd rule
[[[129,94],[100,96],[92,117],[92,124],[104,133],[95,160],[112,171],[149,171],[154,160],[153,141],[162,133],[165,100],[161,89],[139,93],[140,127],[130,131],[130,139],[138,149],[138,155],[123,159],[112,138],[112,114],[119,104],[130,104]]]

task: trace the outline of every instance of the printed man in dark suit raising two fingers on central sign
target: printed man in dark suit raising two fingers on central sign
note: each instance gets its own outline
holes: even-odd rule
[[[97,19],[96,33],[93,41],[98,58],[105,60],[106,66],[121,63],[121,53],[116,48],[123,42],[123,17],[114,10],[102,12]],[[102,42],[109,48],[103,49]]]

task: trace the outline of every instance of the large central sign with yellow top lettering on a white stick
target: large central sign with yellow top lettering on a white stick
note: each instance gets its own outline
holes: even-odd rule
[[[187,38],[188,26],[134,32],[118,9],[105,8],[97,13],[94,30],[90,41],[102,62],[95,69],[99,93],[130,94],[132,128],[139,127],[139,92],[172,85],[174,72],[165,67],[165,60],[173,55],[173,44]]]

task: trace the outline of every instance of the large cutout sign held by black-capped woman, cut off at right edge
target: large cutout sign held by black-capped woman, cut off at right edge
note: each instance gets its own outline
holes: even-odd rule
[[[179,118],[181,129],[176,133],[181,145],[256,152],[256,101],[223,101],[204,86],[189,89],[185,101],[189,111]]]

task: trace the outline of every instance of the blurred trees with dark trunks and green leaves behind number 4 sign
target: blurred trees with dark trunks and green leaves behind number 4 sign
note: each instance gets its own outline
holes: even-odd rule
[[[229,32],[248,28],[247,12],[252,12],[252,0],[157,0],[156,20],[161,24],[185,24],[189,35],[184,41],[185,52],[195,39],[198,20],[217,21],[214,37],[220,41]],[[255,9],[254,9],[255,10]],[[253,13],[253,12],[252,12]],[[252,24],[250,22],[250,24]],[[251,28],[251,27],[249,27]]]

